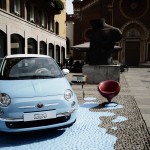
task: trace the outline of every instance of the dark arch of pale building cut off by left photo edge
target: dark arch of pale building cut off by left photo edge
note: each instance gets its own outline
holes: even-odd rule
[[[7,36],[0,30],[0,58],[7,55]]]

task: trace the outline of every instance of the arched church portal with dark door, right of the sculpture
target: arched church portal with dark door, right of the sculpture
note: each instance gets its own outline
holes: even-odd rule
[[[146,61],[146,28],[140,22],[129,22],[123,28],[122,56],[129,66]]]

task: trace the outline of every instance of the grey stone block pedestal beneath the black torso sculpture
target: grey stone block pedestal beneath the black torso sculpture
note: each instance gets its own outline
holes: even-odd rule
[[[88,84],[99,84],[104,80],[120,81],[120,65],[84,65],[83,75]]]

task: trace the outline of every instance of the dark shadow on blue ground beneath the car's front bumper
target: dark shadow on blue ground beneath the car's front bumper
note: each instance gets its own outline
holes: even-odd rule
[[[65,129],[61,130],[40,130],[21,133],[0,132],[0,148],[26,145],[45,140],[50,140],[61,136]]]

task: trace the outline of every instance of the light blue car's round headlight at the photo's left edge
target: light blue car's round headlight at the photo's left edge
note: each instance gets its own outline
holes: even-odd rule
[[[0,106],[7,107],[11,102],[9,95],[5,93],[0,93]]]

